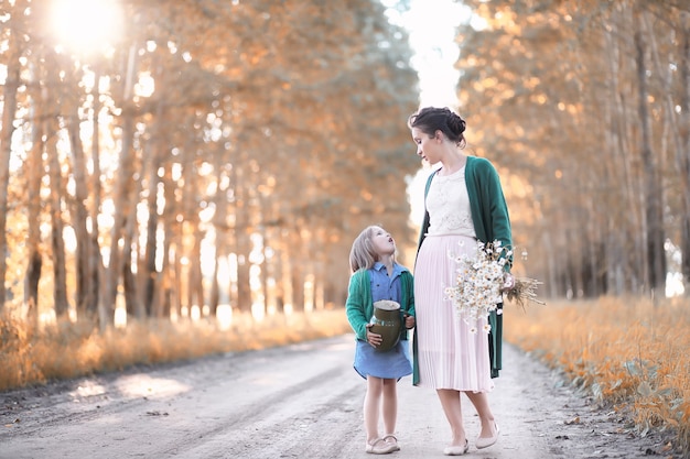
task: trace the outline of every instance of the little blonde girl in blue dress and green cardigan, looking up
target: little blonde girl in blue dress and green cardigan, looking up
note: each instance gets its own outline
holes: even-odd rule
[[[386,455],[398,451],[396,417],[398,395],[396,384],[412,373],[407,329],[414,327],[414,291],[410,271],[396,263],[396,242],[378,226],[366,228],[349,252],[349,278],[345,309],[355,335],[355,370],[367,380],[364,398],[364,426],[367,433],[366,452]],[[400,304],[405,315],[400,341],[388,351],[377,351],[381,335],[369,330],[374,303],[391,299]],[[386,434],[379,437],[379,409]]]

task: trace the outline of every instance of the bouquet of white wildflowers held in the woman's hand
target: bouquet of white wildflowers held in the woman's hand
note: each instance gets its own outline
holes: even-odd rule
[[[502,247],[500,241],[477,241],[476,256],[449,254],[457,263],[455,285],[445,287],[445,296],[453,302],[465,323],[476,332],[476,323],[486,318],[503,303],[503,294],[509,300],[525,307],[526,300],[543,304],[537,299],[535,289],[541,284],[528,277],[513,277],[505,271],[513,250]],[[500,314],[500,310],[497,310]],[[490,331],[488,323],[484,331]]]

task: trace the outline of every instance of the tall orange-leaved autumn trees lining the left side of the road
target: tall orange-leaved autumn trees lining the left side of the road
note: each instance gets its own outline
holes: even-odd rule
[[[9,164],[4,127],[33,133],[20,173],[43,184],[13,209],[31,209],[28,305],[46,276],[55,304],[43,308],[97,312],[103,329],[120,307],[342,305],[362,227],[409,237],[417,79],[379,2],[121,2],[120,40],[85,55],[55,45],[43,1],[3,17],[33,24],[19,42],[3,30],[2,54],[1,145]]]

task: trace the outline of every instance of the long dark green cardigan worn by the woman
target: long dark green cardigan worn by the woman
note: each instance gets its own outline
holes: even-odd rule
[[[424,198],[436,173],[438,171],[434,171],[427,181]],[[467,195],[470,196],[472,222],[474,223],[474,232],[477,239],[484,243],[498,240],[504,248],[513,248],[508,206],[506,205],[500,179],[494,165],[484,157],[467,156],[465,183],[467,185]],[[417,245],[418,252],[427,237],[427,231],[429,231],[428,211],[424,212],[419,244]],[[506,271],[510,270],[511,264],[513,258],[506,263]],[[498,309],[503,309],[503,303],[498,305]],[[492,378],[498,378],[498,372],[502,369],[503,314],[494,312],[489,315],[488,320],[492,326],[488,336]],[[417,330],[414,332],[417,334]],[[417,356],[414,360],[417,361]]]

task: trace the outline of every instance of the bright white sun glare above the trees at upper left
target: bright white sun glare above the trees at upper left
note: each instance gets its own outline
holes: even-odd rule
[[[53,0],[57,46],[77,53],[106,52],[119,40],[122,10],[117,0]]]

